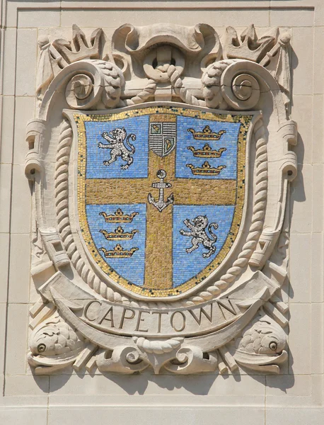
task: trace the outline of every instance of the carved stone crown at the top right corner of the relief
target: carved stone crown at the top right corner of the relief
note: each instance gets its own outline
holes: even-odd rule
[[[254,25],[248,26],[241,34],[241,42],[238,40],[236,30],[228,26],[226,28],[226,42],[224,43],[224,57],[247,59],[260,62],[266,53],[272,49],[277,39],[277,29],[273,35],[267,34],[258,38]]]

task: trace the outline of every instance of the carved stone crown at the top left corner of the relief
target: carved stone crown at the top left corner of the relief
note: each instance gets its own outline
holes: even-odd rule
[[[75,23],[72,26],[73,45],[64,38],[53,41],[55,49],[64,57],[66,62],[71,64],[83,59],[98,59],[100,57],[100,36],[102,28],[97,28],[91,34],[90,42],[87,42],[86,35]]]

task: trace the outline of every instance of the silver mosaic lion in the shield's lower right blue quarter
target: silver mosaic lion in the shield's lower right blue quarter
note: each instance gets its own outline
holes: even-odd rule
[[[190,232],[181,229],[180,234],[192,238],[192,246],[186,249],[187,253],[190,254],[192,251],[195,251],[195,249],[199,248],[199,244],[202,244],[204,248],[209,249],[208,252],[204,252],[204,254],[202,254],[204,259],[208,259],[212,254],[214,254],[216,251],[216,246],[214,245],[216,244],[217,236],[214,234],[214,232],[212,232],[212,227],[214,227],[216,230],[219,225],[217,225],[217,223],[210,223],[208,226],[208,218],[206,215],[198,215],[192,220],[192,222],[190,222],[189,219],[186,219],[183,221],[183,223],[187,226]],[[210,237],[206,231],[207,226]]]

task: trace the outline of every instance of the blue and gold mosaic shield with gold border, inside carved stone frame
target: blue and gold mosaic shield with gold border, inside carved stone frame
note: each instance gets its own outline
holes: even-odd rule
[[[81,236],[110,282],[170,297],[216,273],[243,219],[255,113],[155,105],[68,115]]]

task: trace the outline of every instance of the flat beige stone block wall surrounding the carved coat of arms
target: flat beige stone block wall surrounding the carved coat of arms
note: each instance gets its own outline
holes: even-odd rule
[[[323,120],[324,3],[277,1],[1,1],[0,424],[324,423]],[[291,31],[291,119],[298,123],[298,174],[289,212],[289,359],[279,375],[215,372],[141,375],[58,371],[34,375],[27,361],[29,310],[40,296],[30,277],[31,183],[25,125],[37,113],[37,40],[108,38],[124,23],[195,26],[224,35],[254,23]],[[37,285],[37,283],[36,283]]]

